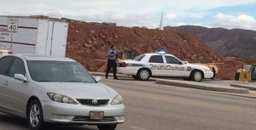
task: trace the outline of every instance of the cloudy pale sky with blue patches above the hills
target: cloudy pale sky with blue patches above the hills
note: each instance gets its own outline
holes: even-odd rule
[[[48,15],[122,26],[201,25],[256,31],[256,0],[0,0],[0,15]]]

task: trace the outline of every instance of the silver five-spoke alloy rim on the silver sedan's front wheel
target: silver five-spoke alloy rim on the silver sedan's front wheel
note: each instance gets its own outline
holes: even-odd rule
[[[40,121],[40,110],[38,105],[32,105],[30,110],[30,123],[32,127],[37,127]]]

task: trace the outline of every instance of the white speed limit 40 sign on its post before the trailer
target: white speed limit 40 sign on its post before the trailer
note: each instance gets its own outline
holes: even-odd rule
[[[8,31],[11,32],[11,49],[13,49],[13,33],[18,31],[18,19],[9,18],[8,19]]]

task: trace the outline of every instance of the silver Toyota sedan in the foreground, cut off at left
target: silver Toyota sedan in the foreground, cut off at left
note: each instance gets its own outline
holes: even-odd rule
[[[23,117],[32,130],[45,123],[96,125],[125,122],[122,96],[77,61],[35,54],[0,59],[0,111]]]

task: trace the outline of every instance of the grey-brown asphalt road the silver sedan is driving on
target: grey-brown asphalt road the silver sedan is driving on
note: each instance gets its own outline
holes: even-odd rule
[[[124,98],[125,123],[117,130],[255,130],[256,99],[133,79],[103,79]],[[50,126],[49,130],[96,130]],[[0,130],[29,130],[26,121],[0,114]]]

